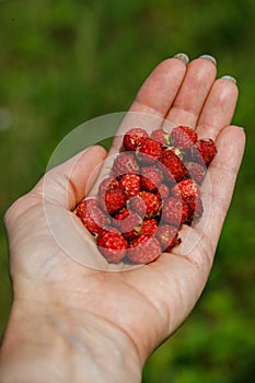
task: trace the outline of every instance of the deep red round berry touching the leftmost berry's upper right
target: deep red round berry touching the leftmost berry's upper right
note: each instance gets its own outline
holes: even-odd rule
[[[127,196],[125,190],[118,187],[106,190],[105,195],[101,198],[101,205],[109,214],[114,214],[126,207],[126,200]]]

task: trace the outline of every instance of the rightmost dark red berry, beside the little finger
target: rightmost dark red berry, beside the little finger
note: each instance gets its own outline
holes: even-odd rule
[[[210,162],[217,154],[217,148],[211,139],[198,140],[196,146],[192,148],[192,155],[198,162],[204,162],[209,166]]]

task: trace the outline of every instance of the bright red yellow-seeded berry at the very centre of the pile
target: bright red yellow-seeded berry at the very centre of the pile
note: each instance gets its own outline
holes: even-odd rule
[[[161,201],[159,197],[149,192],[140,192],[137,196],[129,199],[130,208],[140,217],[152,218],[159,216]]]

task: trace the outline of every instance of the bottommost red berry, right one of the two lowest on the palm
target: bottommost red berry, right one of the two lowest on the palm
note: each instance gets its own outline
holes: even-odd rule
[[[161,247],[154,236],[139,235],[130,241],[127,251],[128,258],[134,264],[149,264],[159,258]]]

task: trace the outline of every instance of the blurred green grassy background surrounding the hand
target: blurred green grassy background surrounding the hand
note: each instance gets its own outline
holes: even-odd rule
[[[237,79],[247,147],[209,282],[143,383],[254,382],[254,0],[0,1],[0,213],[44,174],[74,127],[127,111],[164,58],[211,54]],[[0,232],[0,334],[11,305]]]

